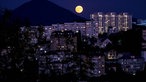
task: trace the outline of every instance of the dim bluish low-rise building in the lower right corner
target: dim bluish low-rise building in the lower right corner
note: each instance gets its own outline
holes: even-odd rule
[[[129,74],[135,75],[139,71],[143,71],[145,62],[143,57],[133,55],[124,55],[118,61],[121,64],[122,70]]]

